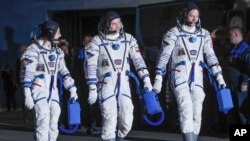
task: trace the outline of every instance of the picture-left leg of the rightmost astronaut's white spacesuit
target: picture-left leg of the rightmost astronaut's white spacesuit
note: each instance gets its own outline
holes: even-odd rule
[[[189,85],[183,83],[176,87],[175,97],[179,110],[181,132],[184,134],[194,132],[193,103]]]

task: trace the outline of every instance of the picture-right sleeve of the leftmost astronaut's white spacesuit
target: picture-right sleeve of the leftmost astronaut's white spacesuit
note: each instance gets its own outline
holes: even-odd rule
[[[64,59],[64,53],[61,49],[59,49],[59,66],[58,71],[63,79],[63,86],[66,90],[69,90],[73,87],[75,87],[74,79],[71,77],[70,72],[68,68],[66,67],[65,59]]]

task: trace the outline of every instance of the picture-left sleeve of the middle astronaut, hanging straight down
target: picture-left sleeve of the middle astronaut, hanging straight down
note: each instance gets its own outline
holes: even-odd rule
[[[97,84],[97,61],[99,56],[99,46],[94,39],[85,47],[85,77],[88,85]]]

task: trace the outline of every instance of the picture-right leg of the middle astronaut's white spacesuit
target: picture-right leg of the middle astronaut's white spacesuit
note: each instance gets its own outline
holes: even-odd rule
[[[118,132],[117,138],[123,139],[132,128],[134,106],[131,100],[128,81],[122,82],[119,95]]]

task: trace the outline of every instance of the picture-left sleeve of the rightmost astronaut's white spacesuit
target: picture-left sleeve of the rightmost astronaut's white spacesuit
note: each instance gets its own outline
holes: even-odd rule
[[[170,29],[166,34],[164,34],[156,64],[155,73],[157,75],[165,75],[166,65],[171,57],[176,40],[177,36],[174,29]]]

